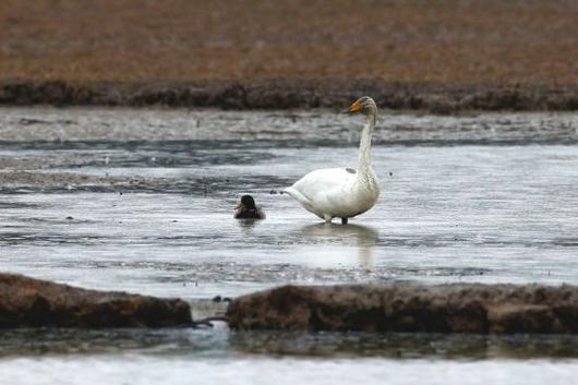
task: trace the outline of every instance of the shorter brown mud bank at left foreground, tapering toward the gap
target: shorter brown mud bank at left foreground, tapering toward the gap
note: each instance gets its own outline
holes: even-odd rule
[[[164,327],[191,324],[181,300],[85,290],[0,274],[0,327]]]

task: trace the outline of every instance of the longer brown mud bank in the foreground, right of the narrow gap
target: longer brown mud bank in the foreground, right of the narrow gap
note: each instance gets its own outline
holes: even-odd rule
[[[236,329],[578,333],[578,288],[513,285],[297,287],[236,299]]]

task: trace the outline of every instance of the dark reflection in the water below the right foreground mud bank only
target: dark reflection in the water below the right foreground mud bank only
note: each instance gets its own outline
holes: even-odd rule
[[[253,354],[392,359],[577,358],[576,336],[398,333],[231,333],[236,350]]]

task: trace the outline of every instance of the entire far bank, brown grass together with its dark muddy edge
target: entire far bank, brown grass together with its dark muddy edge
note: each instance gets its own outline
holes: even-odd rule
[[[287,108],[371,91],[392,108],[576,109],[577,15],[573,0],[5,0],[0,101]]]

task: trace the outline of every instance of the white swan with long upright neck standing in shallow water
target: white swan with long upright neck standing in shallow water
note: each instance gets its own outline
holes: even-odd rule
[[[348,218],[372,208],[380,196],[380,184],[371,168],[370,154],[377,106],[371,97],[363,96],[353,103],[347,112],[361,112],[365,116],[359,145],[358,169],[324,168],[311,171],[285,189],[285,192],[305,209],[326,222],[338,217],[344,225]]]

